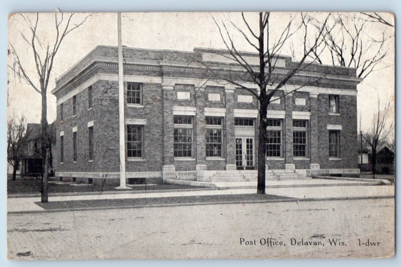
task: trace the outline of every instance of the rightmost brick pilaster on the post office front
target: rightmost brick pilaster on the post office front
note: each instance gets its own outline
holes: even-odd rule
[[[310,94],[310,164],[309,168],[311,170],[320,169],[319,165],[319,129],[318,129],[318,104],[317,104],[317,94]]]

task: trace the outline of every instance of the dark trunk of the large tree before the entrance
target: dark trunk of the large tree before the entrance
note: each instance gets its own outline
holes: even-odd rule
[[[261,103],[258,136],[258,194],[264,194],[266,190],[266,115],[267,106]]]

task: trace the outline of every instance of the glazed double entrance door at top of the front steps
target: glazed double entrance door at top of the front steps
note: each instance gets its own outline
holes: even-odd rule
[[[254,138],[237,137],[235,139],[235,163],[237,170],[255,169]]]

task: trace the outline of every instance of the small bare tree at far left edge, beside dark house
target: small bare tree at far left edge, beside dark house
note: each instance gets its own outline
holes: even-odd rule
[[[13,180],[16,180],[17,170],[20,167],[26,130],[27,123],[24,116],[21,116],[18,120],[12,118],[7,122],[7,161],[13,166]]]

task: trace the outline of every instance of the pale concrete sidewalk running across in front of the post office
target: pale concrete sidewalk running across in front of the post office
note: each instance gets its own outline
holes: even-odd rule
[[[366,185],[361,182],[355,185],[353,181],[336,180],[297,180],[297,181],[268,181],[266,193],[273,195],[286,196],[296,199],[324,200],[324,199],[344,199],[344,198],[375,198],[375,197],[393,197],[394,186]],[[253,183],[253,182],[249,182]],[[316,184],[319,183],[320,186]],[[296,187],[276,187],[273,185],[298,184]],[[301,185],[304,186],[301,186]],[[314,184],[316,186],[310,186]],[[331,186],[329,186],[331,184]],[[335,185],[333,185],[335,184]],[[309,185],[309,186],[308,186]],[[223,185],[222,185],[223,186]],[[224,184],[225,187],[229,185]],[[91,199],[125,199],[125,198],[152,198],[152,197],[177,197],[177,196],[201,196],[201,195],[224,195],[224,194],[254,194],[256,184],[249,184],[252,188],[234,188],[225,190],[202,190],[202,191],[181,191],[181,192],[147,192],[137,194],[101,194],[101,195],[78,195],[78,196],[54,196],[49,197],[49,201],[69,201],[69,200],[91,200]],[[35,212],[44,209],[35,202],[40,201],[40,197],[20,197],[8,198],[8,212]]]

